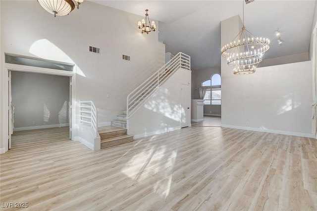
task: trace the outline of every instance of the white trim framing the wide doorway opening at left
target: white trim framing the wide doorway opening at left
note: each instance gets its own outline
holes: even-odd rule
[[[0,153],[5,153],[8,151],[8,101],[9,101],[9,96],[8,96],[8,87],[9,87],[9,81],[8,81],[8,74],[9,70],[13,71],[21,71],[21,72],[32,72],[32,73],[42,73],[42,74],[50,74],[50,75],[60,75],[60,76],[68,76],[72,78],[72,86],[71,86],[71,121],[70,125],[72,125],[72,133],[71,133],[71,140],[74,140],[75,137],[75,119],[76,119],[76,89],[75,89],[75,66],[73,71],[64,71],[64,70],[56,70],[56,69],[49,69],[49,68],[42,68],[42,67],[33,67],[33,66],[25,66],[25,65],[19,65],[19,64],[9,64],[9,63],[4,63],[4,77],[1,78],[1,84],[3,89],[1,90],[1,106],[2,110],[1,115],[1,130],[3,131],[2,136],[0,137],[1,139],[1,151]]]

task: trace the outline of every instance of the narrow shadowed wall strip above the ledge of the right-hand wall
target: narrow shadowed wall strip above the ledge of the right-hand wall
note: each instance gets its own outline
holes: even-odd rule
[[[266,67],[266,66],[273,66],[279,64],[288,64],[288,63],[295,63],[301,61],[308,61],[309,53],[297,53],[293,55],[285,55],[276,58],[264,58],[264,60],[259,64],[258,67]]]

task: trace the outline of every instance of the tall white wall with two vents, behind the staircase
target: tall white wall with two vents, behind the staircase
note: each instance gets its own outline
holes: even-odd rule
[[[158,31],[141,34],[136,27],[142,16],[90,1],[55,18],[37,1],[0,3],[1,54],[75,63],[77,101],[92,100],[99,122],[115,119],[127,95],[164,64]],[[101,54],[90,53],[89,46],[100,48]],[[122,54],[131,60],[123,60]]]

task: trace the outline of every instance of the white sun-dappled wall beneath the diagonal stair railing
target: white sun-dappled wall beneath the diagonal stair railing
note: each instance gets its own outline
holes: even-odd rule
[[[134,138],[180,129],[181,84],[191,89],[191,71],[179,68],[128,119],[128,134]],[[189,101],[191,91],[189,91]],[[190,116],[189,116],[190,118]]]

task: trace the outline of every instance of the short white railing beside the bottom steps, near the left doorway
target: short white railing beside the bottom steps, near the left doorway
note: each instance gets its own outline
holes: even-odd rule
[[[92,101],[79,102],[79,122],[90,126],[95,138],[98,136],[98,113]]]

